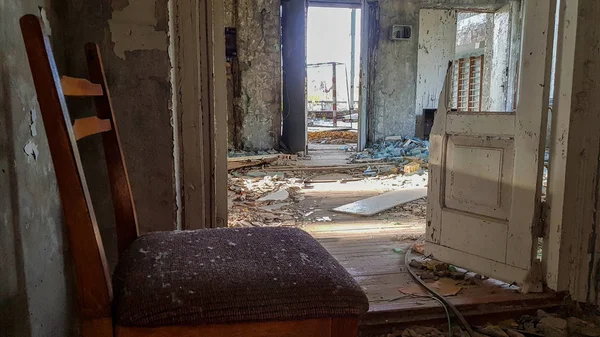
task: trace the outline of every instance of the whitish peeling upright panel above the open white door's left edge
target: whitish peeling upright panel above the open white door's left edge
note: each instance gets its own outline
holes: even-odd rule
[[[456,11],[422,9],[419,18],[417,67],[417,135],[423,109],[437,109],[448,62],[456,53]]]

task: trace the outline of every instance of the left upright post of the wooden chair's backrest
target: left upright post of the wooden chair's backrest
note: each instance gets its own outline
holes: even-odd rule
[[[20,25],[63,205],[81,316],[110,317],[110,274],[50,41],[38,17],[26,15]]]

